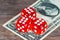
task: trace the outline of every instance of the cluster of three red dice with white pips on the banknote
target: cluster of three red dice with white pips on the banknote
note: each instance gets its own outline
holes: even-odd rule
[[[37,18],[36,10],[33,7],[26,7],[21,11],[21,16],[16,22],[16,29],[19,32],[29,31],[40,35],[48,28],[47,22],[43,18]]]

